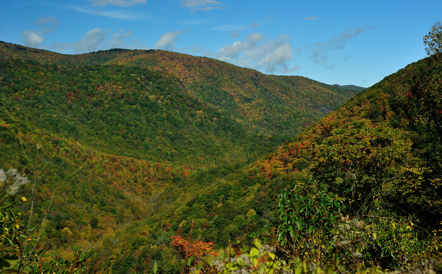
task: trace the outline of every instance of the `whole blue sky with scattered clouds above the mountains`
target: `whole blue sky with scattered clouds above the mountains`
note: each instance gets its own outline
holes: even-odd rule
[[[442,1],[0,0],[0,40],[59,53],[167,49],[369,87],[426,56]]]

